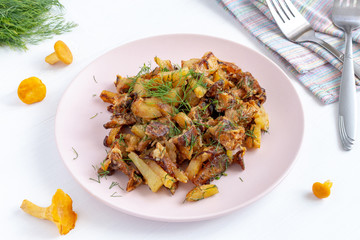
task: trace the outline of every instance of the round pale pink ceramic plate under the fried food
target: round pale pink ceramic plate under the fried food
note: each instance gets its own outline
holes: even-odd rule
[[[99,95],[115,91],[117,74],[132,76],[155,56],[180,64],[212,51],[219,59],[234,62],[251,72],[266,89],[265,109],[270,118],[269,134],[263,135],[261,149],[245,155],[246,170],[232,165],[227,176],[215,180],[219,193],[195,203],[184,203],[192,187],[181,184],[174,196],[163,189],[152,193],[143,185],[125,192],[127,177],[115,174],[97,180],[93,166],[105,158],[103,139],[110,118],[108,104]],[[152,66],[155,66],[153,64]],[[271,191],[288,173],[303,138],[304,117],[299,97],[284,72],[268,58],[228,40],[192,34],[146,38],[115,48],[86,67],[65,92],[56,116],[56,140],[65,165],[89,193],[121,212],[152,220],[197,221],[242,208]],[[75,152],[76,151],[76,152]],[[74,159],[76,158],[76,159]],[[94,179],[91,180],[90,178]],[[114,183],[113,183],[114,182]],[[113,184],[112,184],[113,183]],[[112,187],[111,187],[112,186]],[[120,197],[121,196],[121,197]]]

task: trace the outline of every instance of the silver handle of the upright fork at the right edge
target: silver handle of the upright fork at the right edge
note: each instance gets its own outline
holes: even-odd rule
[[[345,133],[355,141],[357,126],[356,88],[352,57],[351,32],[345,32],[344,66],[340,83],[339,116],[343,117]]]

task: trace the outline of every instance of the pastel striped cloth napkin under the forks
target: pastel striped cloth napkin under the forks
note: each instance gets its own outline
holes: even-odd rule
[[[265,0],[218,0],[253,36],[262,42],[295,77],[323,103],[338,100],[342,63],[314,43],[287,40],[275,24]],[[331,21],[333,1],[292,0],[317,36],[344,50],[344,33]],[[360,62],[360,30],[353,32],[354,59]],[[311,50],[310,50],[311,49]],[[360,87],[357,86],[357,90]]]

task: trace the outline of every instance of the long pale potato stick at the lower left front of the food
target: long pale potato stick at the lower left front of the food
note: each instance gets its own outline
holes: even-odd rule
[[[134,152],[129,153],[129,158],[139,169],[140,173],[145,178],[146,184],[149,186],[151,191],[157,192],[163,185],[161,178],[149,167],[149,165],[147,165],[144,162],[144,160],[139,158],[139,156],[136,153]]]

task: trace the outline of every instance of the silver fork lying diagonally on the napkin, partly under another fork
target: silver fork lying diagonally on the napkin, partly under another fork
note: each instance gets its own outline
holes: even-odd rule
[[[358,0],[360,1],[360,0]],[[313,42],[344,62],[344,54],[315,36],[310,23],[300,14],[290,0],[266,0],[266,4],[282,33],[292,42]],[[360,79],[360,65],[354,63],[354,72]]]

